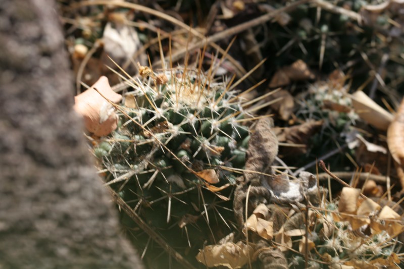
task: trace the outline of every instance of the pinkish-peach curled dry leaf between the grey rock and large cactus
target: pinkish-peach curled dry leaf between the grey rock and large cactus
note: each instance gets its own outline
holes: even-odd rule
[[[108,100],[118,103],[122,95],[114,92],[107,77],[100,77],[91,88],[74,97],[74,110],[84,118],[86,129],[96,136],[105,136],[117,128],[118,116]]]

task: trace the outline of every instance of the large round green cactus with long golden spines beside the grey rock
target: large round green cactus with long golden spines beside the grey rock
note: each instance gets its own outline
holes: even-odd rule
[[[205,240],[231,231],[229,200],[249,139],[242,98],[208,73],[140,67],[118,129],[93,149],[107,184],[173,247],[192,249],[192,260]],[[124,214],[122,223],[135,228]],[[147,239],[136,235],[136,245]]]

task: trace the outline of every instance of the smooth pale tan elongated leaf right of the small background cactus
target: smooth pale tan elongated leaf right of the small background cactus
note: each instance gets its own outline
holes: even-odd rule
[[[350,97],[355,112],[362,120],[382,131],[387,130],[389,124],[393,121],[393,115],[375,103],[363,91],[357,91]]]

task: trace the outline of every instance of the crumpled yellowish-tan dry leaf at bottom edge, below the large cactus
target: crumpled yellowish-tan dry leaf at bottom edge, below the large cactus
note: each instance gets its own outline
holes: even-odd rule
[[[208,267],[226,266],[240,268],[252,258],[254,249],[241,241],[222,245],[209,245],[199,250],[196,259]]]

